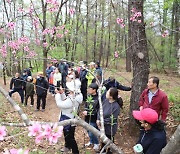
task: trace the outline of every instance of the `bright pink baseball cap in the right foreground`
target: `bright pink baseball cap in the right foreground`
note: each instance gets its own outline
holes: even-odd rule
[[[150,124],[158,121],[158,114],[151,108],[145,108],[141,111],[133,111],[133,117],[137,120],[145,120]]]

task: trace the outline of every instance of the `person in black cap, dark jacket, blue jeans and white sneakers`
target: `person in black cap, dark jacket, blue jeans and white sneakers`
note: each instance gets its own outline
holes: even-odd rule
[[[97,112],[99,110],[99,101],[98,101],[98,85],[96,83],[91,83],[87,89],[88,98],[85,102],[85,111],[83,111],[83,115],[85,116],[85,121],[89,123],[91,126],[98,129],[96,120],[97,120]],[[99,141],[98,138],[90,131],[88,131],[88,135],[90,141],[85,144],[85,146],[94,145],[93,149],[95,151],[99,150]]]

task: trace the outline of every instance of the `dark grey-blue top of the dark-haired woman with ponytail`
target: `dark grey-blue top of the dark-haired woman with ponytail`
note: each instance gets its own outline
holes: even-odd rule
[[[103,118],[106,135],[114,136],[116,134],[119,114],[120,106],[117,102],[110,103],[108,99],[103,102]],[[100,120],[99,112],[97,119]]]

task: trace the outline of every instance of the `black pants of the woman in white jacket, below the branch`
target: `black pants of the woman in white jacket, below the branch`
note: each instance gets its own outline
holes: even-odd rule
[[[63,129],[65,138],[65,147],[72,149],[73,154],[79,154],[78,146],[74,137],[75,126],[71,126],[69,130]]]

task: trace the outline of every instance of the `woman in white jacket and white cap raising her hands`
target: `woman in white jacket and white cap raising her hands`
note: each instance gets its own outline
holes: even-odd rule
[[[82,103],[83,96],[80,92],[80,85],[74,84],[74,82],[67,82],[66,87],[69,90],[69,94],[66,96],[63,89],[59,91],[56,89],[55,100],[57,106],[60,108],[60,120],[67,120],[75,118],[75,114],[78,112],[79,105]],[[61,152],[70,152],[72,149],[73,154],[79,154],[78,146],[74,137],[75,126],[67,125],[63,128],[65,145],[61,149]]]

